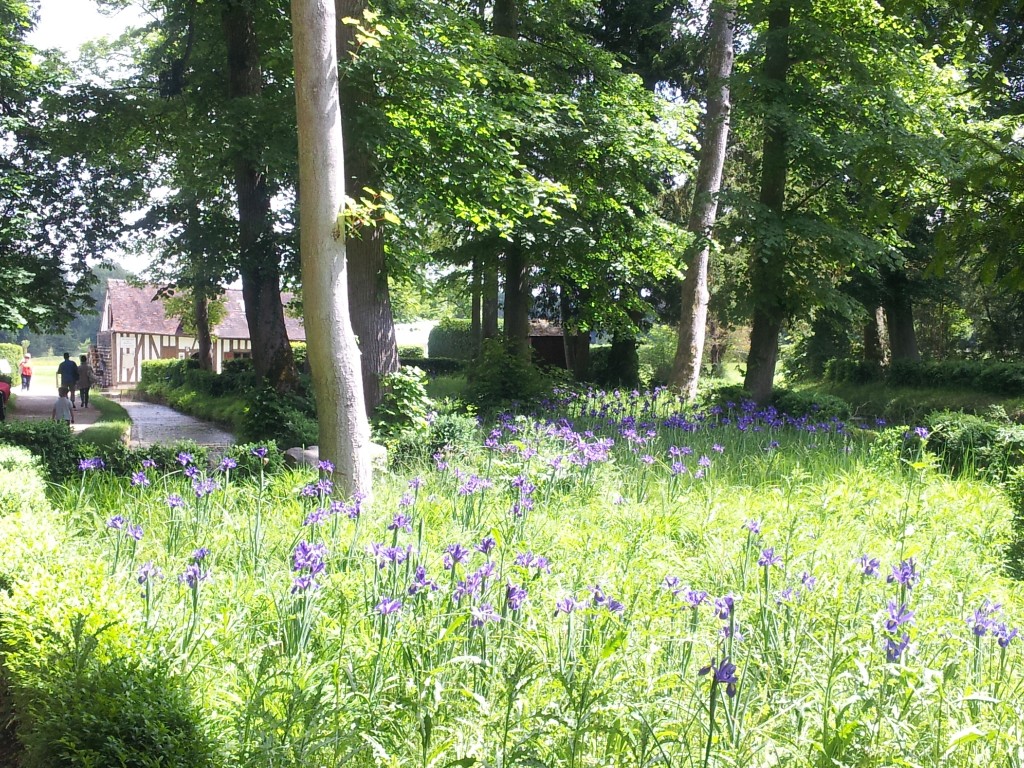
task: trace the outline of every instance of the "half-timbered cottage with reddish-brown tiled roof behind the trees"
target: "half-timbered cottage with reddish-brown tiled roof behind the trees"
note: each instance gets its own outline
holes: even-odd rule
[[[144,360],[185,359],[197,351],[196,337],[184,332],[177,317],[164,311],[157,286],[133,286],[123,280],[106,284],[99,334],[98,369],[103,386],[138,383]],[[287,303],[290,294],[282,294]],[[224,291],[224,318],[213,329],[213,365],[220,373],[225,360],[252,356],[242,291]],[[305,341],[302,321],[286,315],[291,341]]]

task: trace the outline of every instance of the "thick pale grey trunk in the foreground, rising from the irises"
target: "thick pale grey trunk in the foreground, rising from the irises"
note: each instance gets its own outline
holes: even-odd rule
[[[302,300],[321,457],[334,462],[340,492],[369,495],[370,425],[349,315],[345,233],[338,225],[345,174],[333,0],[292,0],[292,31]]]

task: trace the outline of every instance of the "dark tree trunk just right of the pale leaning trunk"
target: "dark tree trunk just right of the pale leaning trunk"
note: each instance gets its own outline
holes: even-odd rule
[[[774,0],[768,10],[765,44],[765,90],[771,98],[784,98],[790,72],[790,1]],[[743,387],[756,402],[771,398],[778,362],[778,334],[785,318],[785,228],[782,214],[785,205],[787,170],[786,127],[783,118],[770,104],[765,114],[765,139],[761,159],[760,202],[768,212],[761,242],[755,246],[751,267],[751,288],[755,295],[754,322],[751,328],[751,351],[746,357]]]

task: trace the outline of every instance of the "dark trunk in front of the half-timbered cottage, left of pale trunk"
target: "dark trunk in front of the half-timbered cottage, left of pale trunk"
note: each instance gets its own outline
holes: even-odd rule
[[[250,3],[225,0],[221,23],[227,44],[228,98],[242,103],[258,101],[263,74]],[[243,141],[258,137],[258,132],[247,132]],[[298,382],[298,374],[281,303],[281,264],[273,245],[270,194],[255,160],[259,147],[250,144],[231,150],[239,204],[239,274],[253,367],[278,391],[287,391]]]

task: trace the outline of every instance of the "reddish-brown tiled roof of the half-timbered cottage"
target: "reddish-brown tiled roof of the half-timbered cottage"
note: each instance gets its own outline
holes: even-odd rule
[[[109,307],[109,330],[125,333],[161,334],[163,336],[185,336],[181,322],[164,313],[164,302],[157,297],[159,288],[153,285],[133,286],[123,280],[111,280],[106,284],[106,306]],[[283,293],[281,300],[287,304],[292,294]],[[213,329],[213,335],[221,339],[248,339],[249,326],[246,323],[245,302],[242,291],[229,288],[224,291],[224,318]],[[306,330],[302,321],[285,316],[288,338],[305,341]]]

